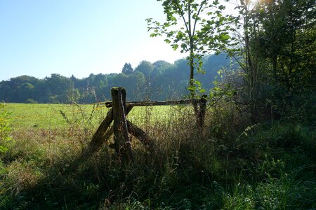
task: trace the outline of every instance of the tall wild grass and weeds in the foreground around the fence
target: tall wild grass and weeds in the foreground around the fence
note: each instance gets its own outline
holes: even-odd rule
[[[316,209],[315,129],[251,125],[225,106],[208,110],[203,132],[187,109],[161,120],[147,108],[137,123],[155,150],[133,138],[134,167],[121,165],[112,137],[78,160],[96,130],[82,114],[56,130],[15,130],[1,153],[0,209]]]

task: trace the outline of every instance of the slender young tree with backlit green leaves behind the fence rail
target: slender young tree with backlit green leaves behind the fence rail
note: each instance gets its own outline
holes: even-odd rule
[[[162,0],[157,0],[162,1]],[[226,25],[231,18],[221,13],[225,6],[215,1],[165,0],[162,3],[166,22],[147,19],[150,36],[166,36],[164,40],[173,50],[187,54],[190,66],[189,90],[196,95],[195,69],[202,71],[202,57],[213,50],[222,50],[230,36]]]

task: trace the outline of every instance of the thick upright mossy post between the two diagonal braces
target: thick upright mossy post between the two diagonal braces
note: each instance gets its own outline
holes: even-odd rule
[[[133,163],[133,153],[126,121],[126,91],[123,87],[113,87],[111,94],[115,151],[124,162]]]

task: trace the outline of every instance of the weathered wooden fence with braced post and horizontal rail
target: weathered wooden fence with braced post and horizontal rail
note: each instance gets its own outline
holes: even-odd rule
[[[206,98],[187,99],[178,101],[164,102],[126,102],[126,90],[123,87],[113,87],[111,89],[112,102],[105,102],[105,106],[112,107],[107,112],[107,116],[96,130],[90,144],[83,155],[91,155],[96,153],[107,139],[114,134],[114,148],[121,160],[125,163],[133,163],[133,153],[131,149],[131,139],[129,134],[139,139],[143,145],[149,150],[154,150],[154,142],[147,136],[143,130],[134,125],[126,116],[129,114],[133,106],[162,106],[162,105],[179,105],[179,104],[195,104],[199,105],[197,115],[197,125],[203,127],[204,116],[206,111]],[[113,122],[113,126],[110,127]]]

